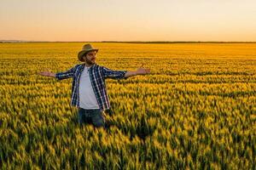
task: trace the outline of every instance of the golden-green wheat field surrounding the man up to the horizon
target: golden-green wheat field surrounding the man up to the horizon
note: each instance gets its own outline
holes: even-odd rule
[[[255,169],[256,43],[92,42],[108,129],[79,127],[71,79],[84,42],[0,43],[0,169]]]

